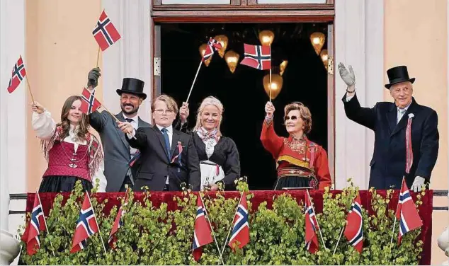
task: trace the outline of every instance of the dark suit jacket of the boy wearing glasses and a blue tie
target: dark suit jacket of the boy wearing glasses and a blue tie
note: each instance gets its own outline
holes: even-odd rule
[[[190,134],[173,129],[170,161],[166,155],[164,136],[157,126],[139,128],[135,137],[126,138],[132,147],[142,153],[142,166],[134,190],[141,191],[143,186],[148,186],[149,190],[164,190],[167,175],[170,191],[181,190],[183,182],[187,186],[190,184],[193,190],[200,190],[200,162]],[[181,156],[178,156],[178,141],[182,146]],[[175,160],[171,163],[173,158]]]

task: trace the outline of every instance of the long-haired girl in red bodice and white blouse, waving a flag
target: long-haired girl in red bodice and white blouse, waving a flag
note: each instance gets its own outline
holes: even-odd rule
[[[70,96],[64,103],[61,122],[37,102],[31,103],[32,125],[41,139],[48,168],[39,192],[70,192],[81,180],[84,191],[91,191],[92,180],[100,180],[98,192],[106,191],[103,151],[98,139],[89,132],[89,117],[81,112],[81,98]]]

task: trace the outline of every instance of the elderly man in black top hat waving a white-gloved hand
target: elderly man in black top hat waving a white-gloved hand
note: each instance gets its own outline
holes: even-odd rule
[[[375,133],[370,187],[399,189],[403,177],[414,192],[426,187],[438,156],[438,116],[412,97],[415,78],[409,78],[407,67],[387,70],[390,83],[385,88],[394,103],[376,103],[373,108],[360,107],[352,67],[348,71],[340,63],[339,72],[348,86],[342,99],[346,116]]]

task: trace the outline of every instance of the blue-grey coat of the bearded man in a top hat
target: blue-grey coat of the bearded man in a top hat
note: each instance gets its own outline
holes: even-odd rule
[[[125,121],[123,113],[115,115],[118,120]],[[125,175],[130,168],[130,144],[126,141],[125,134],[118,128],[118,123],[108,112],[95,111],[89,115],[91,127],[100,134],[101,144],[104,151],[104,175],[108,181],[106,192],[117,192],[125,180]],[[149,127],[139,117],[139,127]],[[137,175],[140,167],[140,159],[132,166],[132,175]]]

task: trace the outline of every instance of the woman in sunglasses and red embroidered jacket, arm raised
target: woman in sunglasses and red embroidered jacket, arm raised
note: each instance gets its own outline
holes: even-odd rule
[[[327,154],[322,146],[309,141],[306,134],[312,129],[309,108],[299,102],[285,105],[284,122],[290,136],[278,137],[273,129],[272,103],[265,105],[266,117],[262,126],[261,141],[278,164],[278,180],[274,190],[283,187],[312,187],[324,190],[331,187]]]

